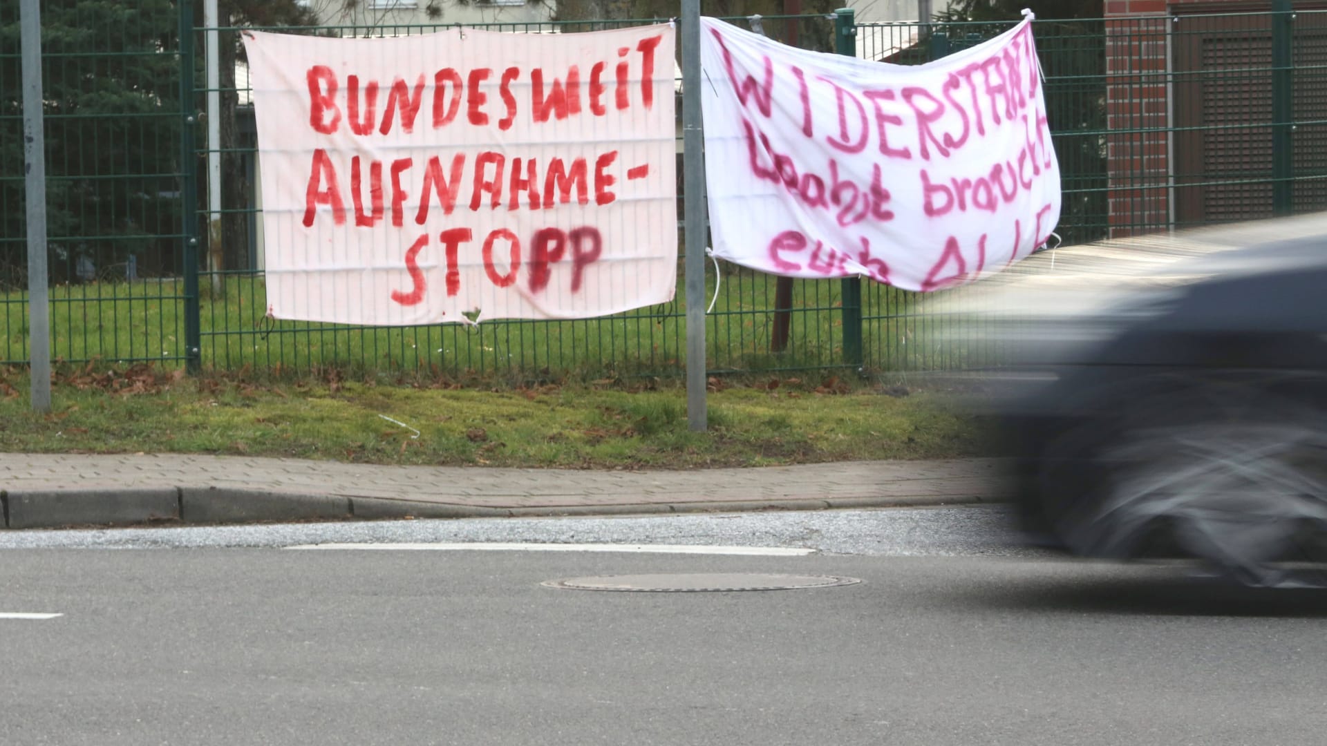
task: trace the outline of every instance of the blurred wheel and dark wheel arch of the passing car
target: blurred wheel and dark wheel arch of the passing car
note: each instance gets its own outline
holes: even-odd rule
[[[1046,447],[1046,515],[1084,556],[1196,558],[1245,585],[1327,587],[1324,394],[1320,377],[1286,373],[1132,380]]]

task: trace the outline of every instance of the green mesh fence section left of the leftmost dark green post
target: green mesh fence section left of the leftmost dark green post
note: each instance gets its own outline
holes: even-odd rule
[[[179,15],[42,4],[52,358],[184,358]],[[19,4],[0,4],[0,364],[28,358]]]

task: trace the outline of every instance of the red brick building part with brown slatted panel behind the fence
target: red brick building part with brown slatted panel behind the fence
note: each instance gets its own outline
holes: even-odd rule
[[[1112,236],[1327,208],[1327,0],[1271,9],[1105,1]]]

